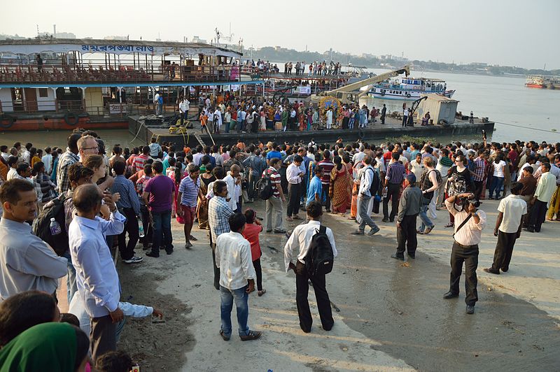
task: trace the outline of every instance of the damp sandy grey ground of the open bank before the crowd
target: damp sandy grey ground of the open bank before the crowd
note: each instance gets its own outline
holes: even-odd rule
[[[283,269],[286,238],[263,233],[267,293],[253,293],[249,300],[249,325],[263,336],[246,343],[235,336],[235,310],[231,340],[218,335],[220,297],[212,286],[206,231],[194,229],[199,240],[185,250],[181,226],[174,222],[173,255],[144,257],[136,266],[118,263],[122,300],[166,314],[160,324],[127,320],[119,347],[140,362],[142,371],[557,370],[560,224],[546,222],[540,234],[524,231],[510,271],[493,276],[482,269],[490,266],[496,245],[497,204],[482,205],[488,226],[480,245],[475,315],[465,315],[463,280],[459,299],[441,298],[449,285],[452,241],[451,229],[443,228],[446,211],[438,211],[431,234],[419,236],[416,260],[405,263],[389,258],[396,245],[394,224],[380,223],[376,236],[356,237],[349,235],[354,222],[324,216],[339,249],[327,277],[331,301],[339,309],[333,310],[335,327],[328,332],[321,329],[312,293],[314,326],[310,334],[300,330],[294,274]],[[263,214],[262,203],[252,208]]]

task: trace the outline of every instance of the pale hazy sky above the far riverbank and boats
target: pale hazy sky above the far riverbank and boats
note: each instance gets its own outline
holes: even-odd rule
[[[2,1],[0,34],[210,41],[560,69],[559,0]],[[169,5],[163,5],[169,4]],[[174,4],[174,5],[172,5]],[[237,5],[236,5],[237,4]],[[251,9],[254,5],[255,9]],[[223,39],[221,40],[224,41]]]

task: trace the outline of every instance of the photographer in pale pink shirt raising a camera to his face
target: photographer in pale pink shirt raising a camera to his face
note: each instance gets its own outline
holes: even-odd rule
[[[456,199],[463,208],[458,210],[455,206]],[[467,304],[466,313],[475,313],[475,303],[477,295],[477,266],[478,266],[478,244],[482,235],[482,230],[486,227],[486,213],[484,210],[477,210],[479,202],[475,195],[470,192],[463,192],[454,196],[449,196],[445,200],[445,206],[449,213],[455,218],[455,239],[451,250],[451,278],[449,292],[443,295],[444,299],[452,299],[459,295],[459,280],[463,262],[465,262],[465,303]]]

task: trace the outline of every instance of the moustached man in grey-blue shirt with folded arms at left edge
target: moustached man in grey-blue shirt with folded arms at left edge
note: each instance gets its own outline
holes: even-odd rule
[[[66,259],[31,233],[37,195],[25,180],[9,180],[0,187],[0,302],[14,294],[36,289],[54,294],[66,275]]]

